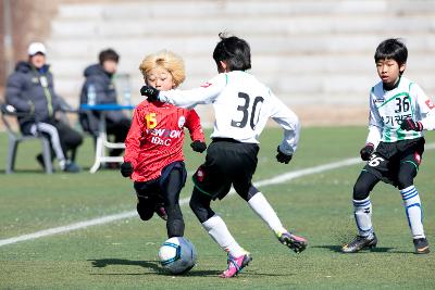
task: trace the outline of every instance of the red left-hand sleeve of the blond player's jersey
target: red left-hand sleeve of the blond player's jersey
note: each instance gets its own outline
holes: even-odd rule
[[[124,162],[130,162],[133,167],[137,166],[140,140],[142,137],[144,123],[140,122],[140,110],[136,109],[133,114],[133,121],[127,137],[125,138]]]

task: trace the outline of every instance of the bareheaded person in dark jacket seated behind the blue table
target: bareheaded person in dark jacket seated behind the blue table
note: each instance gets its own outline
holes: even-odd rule
[[[87,104],[89,97],[89,88],[92,88],[95,96],[95,104],[113,104],[117,103],[116,88],[113,84],[113,77],[116,73],[120,55],[113,49],[107,49],[100,52],[99,63],[86,67],[84,76],[85,83],[82,87],[80,104]],[[90,133],[95,138],[98,135],[98,121],[100,113],[98,111],[83,112],[79,115],[82,127],[85,131]],[[105,112],[105,131],[114,137],[114,142],[124,142],[130,119],[122,111]],[[113,149],[111,156],[120,155],[123,149]],[[117,164],[112,164],[117,165]],[[111,166],[111,164],[109,164]]]

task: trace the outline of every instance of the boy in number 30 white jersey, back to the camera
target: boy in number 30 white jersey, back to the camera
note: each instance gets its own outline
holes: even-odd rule
[[[190,207],[212,239],[227,252],[227,269],[221,277],[231,278],[248,265],[251,256],[236,242],[210,203],[223,199],[232,185],[274,231],[279,242],[299,253],[306,249],[307,240],[284,228],[272,206],[251,181],[258,163],[258,138],[269,117],[284,129],[276,159],[286,164],[298,144],[298,117],[268,87],[245,72],[251,68],[249,45],[235,36],[220,34],[220,38],[213,52],[220,74],[210,81],[185,91],[159,91],[147,86],[140,91],[151,100],[179,106],[207,103],[214,106],[213,141],[208,148],[206,162],[192,177],[195,188]]]

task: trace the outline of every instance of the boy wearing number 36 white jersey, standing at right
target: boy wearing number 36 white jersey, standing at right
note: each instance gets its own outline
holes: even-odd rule
[[[435,129],[435,105],[419,85],[402,76],[408,50],[398,39],[387,39],[377,47],[374,59],[382,81],[370,93],[369,136],[361,149],[368,161],[353,187],[357,238],[341,250],[355,253],[376,247],[370,192],[380,181],[400,190],[417,254],[430,252],[423,230],[423,214],[413,179],[424,151],[422,130]]]

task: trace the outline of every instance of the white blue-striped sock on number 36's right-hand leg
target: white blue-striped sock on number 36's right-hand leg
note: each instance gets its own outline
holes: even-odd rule
[[[400,194],[403,200],[403,206],[412,237],[414,239],[424,238],[423,212],[417,188],[414,186],[407,187],[406,189],[400,190]]]

